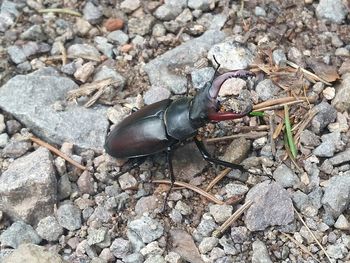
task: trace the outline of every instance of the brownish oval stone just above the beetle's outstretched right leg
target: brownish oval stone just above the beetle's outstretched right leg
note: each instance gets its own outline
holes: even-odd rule
[[[234,139],[227,147],[223,160],[230,163],[241,163],[248,155],[251,142],[245,138]]]

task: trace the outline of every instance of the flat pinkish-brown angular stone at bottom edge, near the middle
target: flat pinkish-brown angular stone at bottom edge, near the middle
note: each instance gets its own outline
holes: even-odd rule
[[[172,229],[170,238],[172,240],[171,250],[179,254],[182,259],[191,263],[203,263],[190,234],[184,230]]]

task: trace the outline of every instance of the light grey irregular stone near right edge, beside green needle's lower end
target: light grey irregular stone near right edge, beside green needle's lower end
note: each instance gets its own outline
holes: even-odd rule
[[[332,157],[335,151],[341,149],[343,142],[340,138],[340,132],[332,132],[322,135],[322,143],[313,150],[313,154],[319,157]]]

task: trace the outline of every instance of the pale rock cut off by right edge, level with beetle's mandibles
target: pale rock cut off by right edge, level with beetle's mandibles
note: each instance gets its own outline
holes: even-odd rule
[[[336,86],[336,95],[332,105],[341,112],[350,109],[350,73],[344,74],[340,84]]]

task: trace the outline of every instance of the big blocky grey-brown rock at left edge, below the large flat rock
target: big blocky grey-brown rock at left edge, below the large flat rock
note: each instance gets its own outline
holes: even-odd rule
[[[0,210],[12,220],[36,224],[53,213],[57,182],[51,158],[46,148],[39,148],[0,176]]]

